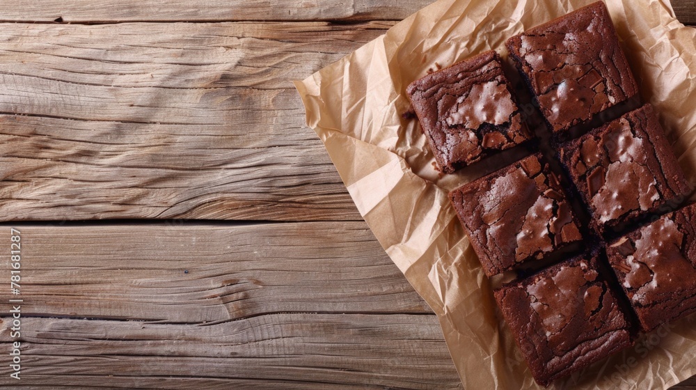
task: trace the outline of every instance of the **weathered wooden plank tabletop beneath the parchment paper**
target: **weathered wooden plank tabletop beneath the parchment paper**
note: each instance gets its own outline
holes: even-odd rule
[[[0,387],[460,388],[290,83],[427,3],[3,6]]]

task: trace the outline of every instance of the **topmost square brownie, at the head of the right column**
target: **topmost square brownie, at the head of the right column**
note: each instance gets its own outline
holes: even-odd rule
[[[509,38],[507,49],[556,136],[638,94],[601,1]]]

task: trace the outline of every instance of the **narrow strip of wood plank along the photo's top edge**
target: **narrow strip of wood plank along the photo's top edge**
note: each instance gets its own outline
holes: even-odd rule
[[[236,22],[402,20],[433,0],[17,0],[5,7],[8,22]]]

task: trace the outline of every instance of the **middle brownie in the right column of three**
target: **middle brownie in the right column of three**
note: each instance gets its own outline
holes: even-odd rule
[[[691,192],[649,104],[564,143],[559,155],[600,234],[677,205]]]

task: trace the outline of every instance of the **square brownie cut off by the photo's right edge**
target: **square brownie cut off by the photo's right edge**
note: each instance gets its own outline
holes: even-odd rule
[[[607,253],[644,331],[696,312],[696,204],[628,233]]]

